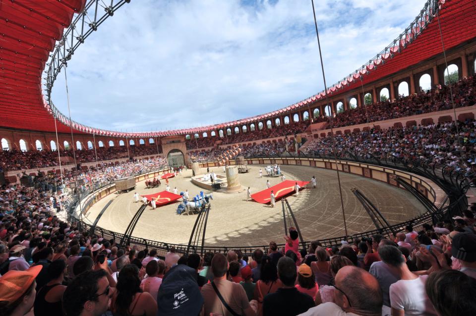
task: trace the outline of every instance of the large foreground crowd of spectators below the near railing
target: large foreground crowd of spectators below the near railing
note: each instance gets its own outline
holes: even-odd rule
[[[291,227],[250,254],[138,249],[0,187],[0,315],[476,315],[476,206],[395,235],[318,241]],[[281,242],[278,240],[278,242]]]

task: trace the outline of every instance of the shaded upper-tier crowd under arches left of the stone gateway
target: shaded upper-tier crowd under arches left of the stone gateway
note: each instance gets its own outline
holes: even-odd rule
[[[162,152],[162,147],[159,147]],[[114,160],[118,158],[139,157],[146,155],[157,155],[157,146],[154,144],[145,146],[129,146],[129,153],[127,153],[126,146],[119,147],[98,147],[94,149],[75,150],[76,163],[95,162],[96,157],[98,161]],[[73,163],[72,150],[60,150],[61,164]],[[65,162],[63,157],[67,157]],[[0,151],[0,168],[4,171],[9,170],[23,170],[23,169],[37,169],[44,167],[59,166],[58,151],[48,150],[2,150]]]

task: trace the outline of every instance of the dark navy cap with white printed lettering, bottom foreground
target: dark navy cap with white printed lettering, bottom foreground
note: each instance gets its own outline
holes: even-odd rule
[[[177,265],[162,280],[157,305],[157,316],[198,315],[203,297],[197,283],[197,272],[185,265]]]

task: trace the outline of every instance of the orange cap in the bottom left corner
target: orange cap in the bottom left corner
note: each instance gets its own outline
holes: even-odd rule
[[[0,277],[0,302],[15,302],[18,300],[40,273],[43,266],[31,267],[26,271],[11,270]]]

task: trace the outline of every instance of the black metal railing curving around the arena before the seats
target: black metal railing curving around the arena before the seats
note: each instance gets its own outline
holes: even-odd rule
[[[356,156],[354,156],[356,157]],[[261,157],[260,157],[261,158]],[[323,158],[323,157],[313,157],[313,158]],[[331,158],[331,157],[328,157]],[[342,159],[344,160],[344,159]],[[419,215],[415,218],[412,218],[403,223],[395,224],[392,226],[382,227],[381,229],[369,230],[357,234],[352,234],[347,237],[347,240],[352,240],[354,238],[361,237],[371,237],[374,234],[382,234],[384,236],[392,236],[394,231],[402,231],[405,229],[405,226],[412,225],[415,229],[421,227],[423,224],[435,224],[438,221],[443,220],[444,218],[450,218],[454,215],[460,215],[463,210],[468,207],[468,200],[466,197],[466,192],[469,188],[468,181],[461,177],[461,172],[450,170],[447,167],[441,168],[441,171],[438,171],[435,166],[430,166],[428,164],[422,163],[421,161],[403,161],[399,159],[394,159],[392,161],[387,160],[372,160],[368,157],[363,159],[363,157],[358,158],[357,160],[348,158],[345,159],[348,161],[358,161],[365,162],[369,164],[378,164],[380,166],[399,169],[405,172],[411,172],[416,175],[423,176],[429,180],[435,182],[444,192],[444,202],[438,205],[435,205],[437,211],[426,211],[424,214]],[[77,201],[76,201],[77,203]],[[70,205],[71,209],[75,209],[75,204]],[[79,220],[73,216],[74,212],[68,212],[68,221],[78,222]],[[80,222],[80,221],[79,221]],[[80,222],[79,226],[84,231],[89,231],[92,228],[92,225]],[[130,246],[137,246],[139,249],[144,248],[154,248],[158,250],[159,255],[165,255],[171,247],[175,247],[177,252],[186,253],[187,245],[186,244],[174,244],[166,243],[157,240],[150,240],[145,238],[139,238],[134,236],[124,236],[124,234],[104,229],[102,227],[94,227],[93,232],[95,235],[100,236],[105,239],[114,239],[116,242],[120,240],[126,240],[127,244]],[[318,240],[323,246],[338,246],[341,245],[341,240],[345,240],[345,236],[329,237]],[[310,240],[303,241],[300,243],[300,247],[307,249],[310,244]],[[279,247],[284,247],[283,244],[279,244]],[[264,250],[268,249],[268,245],[255,245],[255,246],[195,246],[190,249],[200,254],[206,252],[220,252],[226,253],[229,250],[240,250],[243,254],[251,254],[255,249],[262,248]]]

